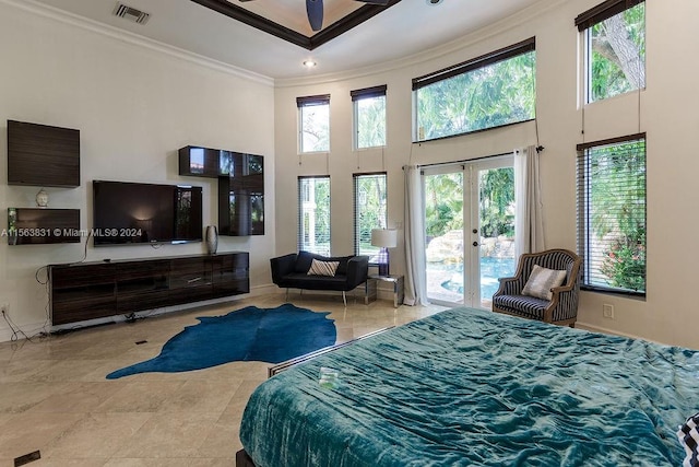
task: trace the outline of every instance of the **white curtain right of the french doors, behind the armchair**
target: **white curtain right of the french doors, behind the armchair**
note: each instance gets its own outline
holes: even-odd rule
[[[542,252],[544,218],[538,177],[538,153],[533,145],[514,151],[514,252]]]

